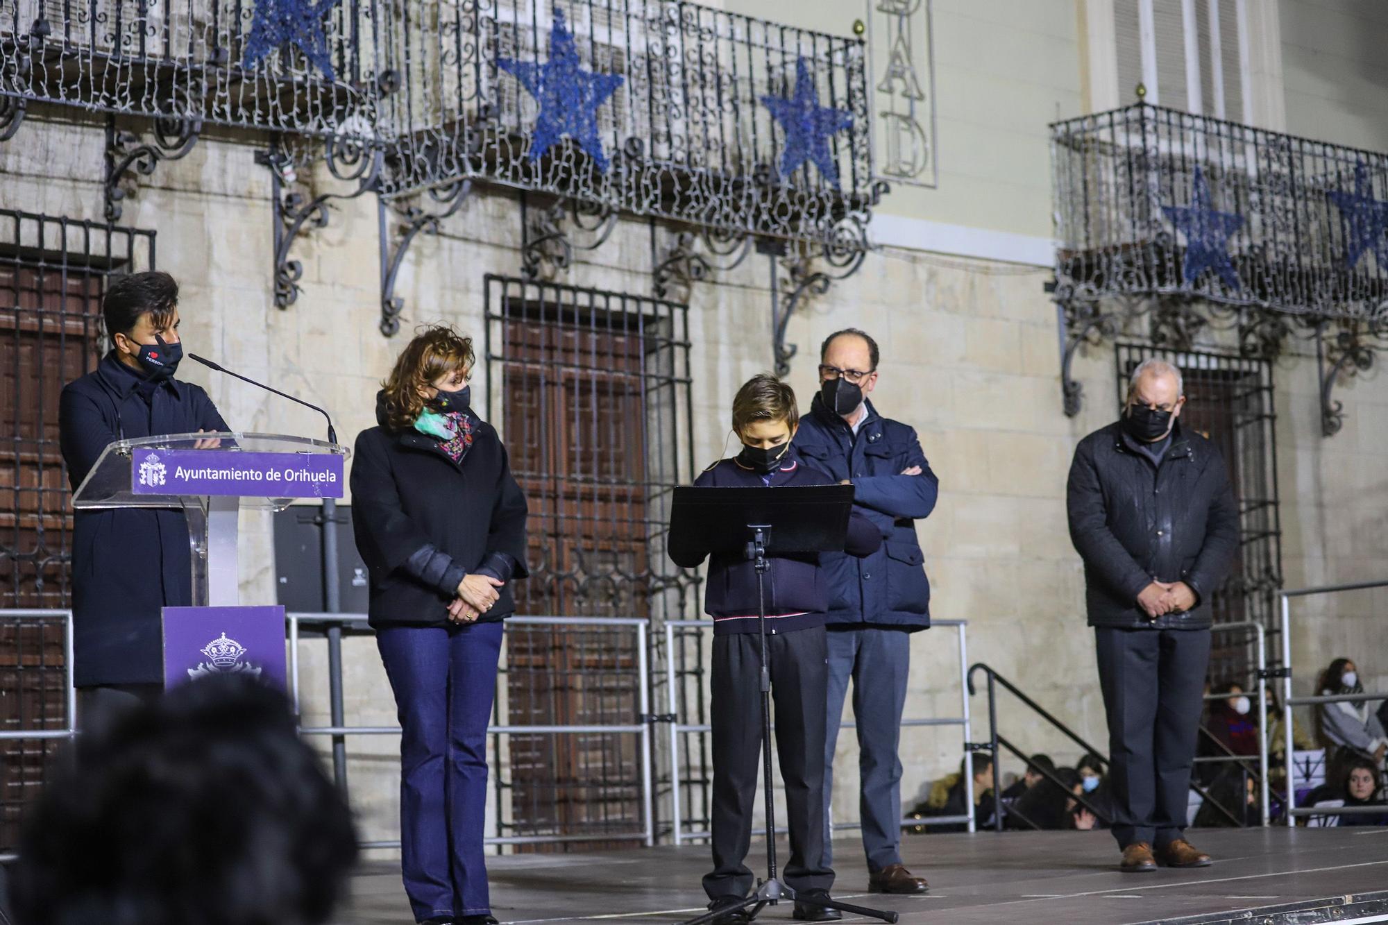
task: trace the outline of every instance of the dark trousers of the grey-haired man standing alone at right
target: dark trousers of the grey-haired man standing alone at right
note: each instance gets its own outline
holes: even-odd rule
[[[1109,719],[1113,838],[1163,847],[1185,829],[1208,629],[1095,628]]]

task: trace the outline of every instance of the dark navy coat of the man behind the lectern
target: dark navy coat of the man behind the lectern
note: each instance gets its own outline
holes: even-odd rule
[[[58,399],[58,440],[76,489],[115,440],[226,431],[207,393],[167,379],[150,400],[142,376],[108,353]],[[193,561],[183,511],[76,511],[72,531],[74,682],[162,683],[161,610],[193,603]]]

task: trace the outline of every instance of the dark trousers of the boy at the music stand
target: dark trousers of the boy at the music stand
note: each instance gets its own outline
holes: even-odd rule
[[[768,635],[766,654],[790,828],[786,885],[827,890],[834,872],[824,861],[824,628]],[[762,757],[761,669],[756,633],[713,638],[713,871],[704,878],[709,899],[747,896],[754,882],[744,861]]]

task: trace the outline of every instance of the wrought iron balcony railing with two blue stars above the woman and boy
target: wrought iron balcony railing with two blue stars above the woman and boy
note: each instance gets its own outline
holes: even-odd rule
[[[783,238],[879,193],[856,39],[683,0],[428,0],[394,40],[396,189],[477,176]]]

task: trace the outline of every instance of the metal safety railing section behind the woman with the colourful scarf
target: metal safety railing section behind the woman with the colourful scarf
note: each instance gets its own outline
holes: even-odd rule
[[[300,708],[300,656],[298,642],[303,636],[301,628],[307,625],[337,625],[350,628],[366,628],[365,614],[286,614],[289,631],[289,685],[294,711]],[[643,842],[655,844],[654,818],[654,774],[651,767],[651,726],[644,722],[650,714],[650,664],[647,661],[647,621],[634,617],[508,617],[508,626],[630,626],[636,631],[636,674],[637,674],[637,717],[630,724],[589,724],[589,725],[497,725],[487,726],[487,735],[630,735],[640,742],[641,753],[641,814],[643,828],[634,832],[594,832],[579,835],[519,835],[519,836],[489,836],[486,844],[547,844],[562,842]],[[340,661],[329,662],[329,675],[341,669]],[[329,678],[330,696],[340,696],[340,678]],[[333,707],[335,715],[341,715],[340,706]],[[344,736],[389,736],[400,735],[400,726],[301,726],[300,735],[329,736],[333,739]],[[346,772],[341,775],[346,779]],[[366,849],[394,849],[400,847],[397,840],[364,842]]]

